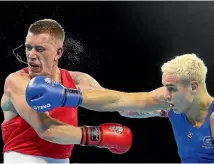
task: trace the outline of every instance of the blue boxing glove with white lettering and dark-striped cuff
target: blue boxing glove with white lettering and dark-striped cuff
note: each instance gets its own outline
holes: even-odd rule
[[[82,103],[82,94],[79,90],[65,88],[45,76],[31,79],[25,96],[28,105],[37,112],[47,112],[63,106],[77,107]]]

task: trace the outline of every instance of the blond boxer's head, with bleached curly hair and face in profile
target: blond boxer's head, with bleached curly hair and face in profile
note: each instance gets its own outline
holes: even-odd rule
[[[187,112],[207,92],[207,67],[195,54],[177,56],[161,67],[165,98],[177,113]]]

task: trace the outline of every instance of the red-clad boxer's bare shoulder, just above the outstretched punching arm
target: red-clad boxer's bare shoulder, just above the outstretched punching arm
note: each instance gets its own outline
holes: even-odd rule
[[[75,85],[81,89],[98,89],[102,88],[95,78],[91,75],[78,71],[69,71]]]

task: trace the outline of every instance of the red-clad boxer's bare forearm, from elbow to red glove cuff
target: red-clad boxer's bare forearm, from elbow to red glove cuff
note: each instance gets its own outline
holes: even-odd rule
[[[80,127],[64,124],[53,118],[44,124],[44,131],[39,136],[49,142],[68,145],[80,144],[82,130]]]

